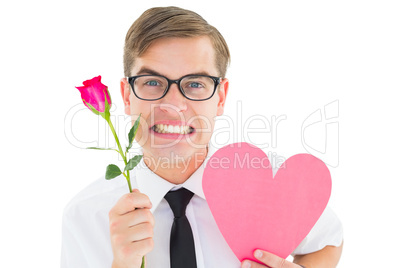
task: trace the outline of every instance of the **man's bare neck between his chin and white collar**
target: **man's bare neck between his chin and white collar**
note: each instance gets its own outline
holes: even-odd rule
[[[208,148],[189,157],[173,155],[169,159],[147,155],[144,163],[159,177],[173,184],[182,184],[202,165],[207,157]]]

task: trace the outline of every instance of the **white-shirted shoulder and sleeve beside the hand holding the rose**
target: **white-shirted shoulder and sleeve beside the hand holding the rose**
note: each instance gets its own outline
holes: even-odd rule
[[[63,211],[62,267],[111,266],[109,211],[126,193],[123,176],[101,177],[70,200]]]

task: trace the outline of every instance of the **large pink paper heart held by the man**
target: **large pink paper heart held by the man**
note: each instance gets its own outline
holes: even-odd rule
[[[245,142],[216,151],[202,185],[219,230],[240,261],[257,261],[257,248],[288,257],[331,195],[331,175],[320,159],[294,155],[273,177],[267,155]]]

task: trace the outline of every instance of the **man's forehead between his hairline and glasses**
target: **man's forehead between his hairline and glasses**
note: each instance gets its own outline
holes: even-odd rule
[[[156,40],[135,59],[132,75],[140,74],[141,69],[154,70],[171,79],[193,73],[218,75],[215,51],[207,36]]]

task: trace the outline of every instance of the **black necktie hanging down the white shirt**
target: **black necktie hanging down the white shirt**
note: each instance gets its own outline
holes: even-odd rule
[[[196,268],[194,238],[186,217],[186,207],[194,193],[185,188],[170,191],[165,195],[173,211],[174,220],[170,233],[170,267]]]

